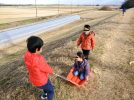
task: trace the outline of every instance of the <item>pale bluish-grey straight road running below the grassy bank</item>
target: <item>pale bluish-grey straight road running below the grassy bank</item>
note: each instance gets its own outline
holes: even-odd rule
[[[39,32],[57,28],[65,24],[79,20],[79,15],[69,15],[55,18],[48,21],[38,22],[32,25],[26,25],[18,28],[9,29],[0,32],[0,45],[8,44],[17,39],[27,38],[30,35],[35,35]]]

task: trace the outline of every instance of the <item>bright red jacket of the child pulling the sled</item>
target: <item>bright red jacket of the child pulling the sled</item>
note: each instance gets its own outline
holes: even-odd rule
[[[24,62],[29,73],[29,80],[35,86],[45,85],[48,75],[53,73],[53,69],[47,64],[44,57],[27,51],[24,55]]]

